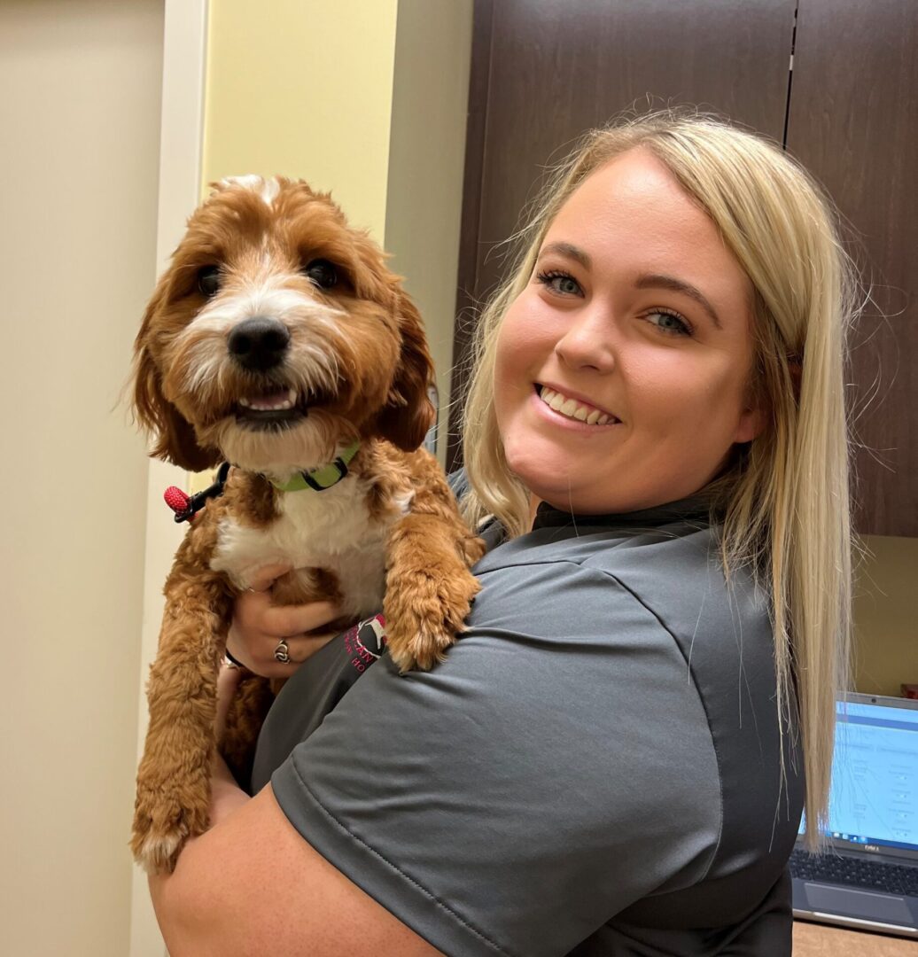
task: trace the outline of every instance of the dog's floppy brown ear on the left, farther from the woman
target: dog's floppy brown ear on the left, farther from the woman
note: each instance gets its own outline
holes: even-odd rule
[[[190,423],[163,394],[159,367],[148,345],[150,326],[165,298],[165,284],[160,283],[149,305],[144,322],[134,341],[134,395],[132,409],[135,420],[153,437],[150,455],[163,458],[190,472],[203,472],[220,461],[214,449],[202,449],[194,437]]]

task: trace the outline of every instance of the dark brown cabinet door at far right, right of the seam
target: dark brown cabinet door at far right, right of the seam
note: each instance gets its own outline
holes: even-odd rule
[[[800,0],[787,148],[835,199],[872,287],[849,375],[857,527],[918,536],[915,0]]]

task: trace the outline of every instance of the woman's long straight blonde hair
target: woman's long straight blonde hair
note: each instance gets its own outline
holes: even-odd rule
[[[851,539],[842,369],[858,284],[832,204],[780,147],[727,122],[672,110],[585,136],[517,234],[523,249],[516,268],[481,316],[464,417],[469,492],[463,509],[472,523],[494,515],[511,536],[528,530],[528,492],[507,467],[494,412],[498,332],[573,190],[638,146],[707,211],[754,289],[750,386],[771,421],[737,450],[712,489],[728,581],[731,569],[751,568],[771,598],[779,726],[783,740],[796,691],[807,841],[814,848],[828,804],[836,691],[848,686]]]

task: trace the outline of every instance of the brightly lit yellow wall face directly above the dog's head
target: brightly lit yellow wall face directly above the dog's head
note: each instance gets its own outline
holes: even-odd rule
[[[240,173],[330,189],[382,242],[396,0],[212,0],[202,189]]]

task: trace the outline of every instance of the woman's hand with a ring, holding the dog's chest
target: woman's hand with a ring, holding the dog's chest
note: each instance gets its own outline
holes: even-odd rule
[[[261,568],[252,588],[235,600],[233,623],[226,648],[232,657],[262,678],[289,678],[307,657],[325,645],[332,634],[307,637],[304,632],[322,628],[341,615],[338,606],[327,601],[308,605],[274,605],[271,587],[288,565]],[[280,642],[286,643],[290,660],[275,657]],[[282,647],[281,647],[282,650]]]

